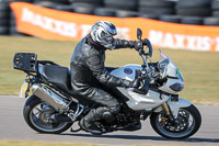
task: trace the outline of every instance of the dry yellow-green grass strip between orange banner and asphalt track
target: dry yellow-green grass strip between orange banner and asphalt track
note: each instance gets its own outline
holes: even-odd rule
[[[69,67],[77,42],[45,41],[35,37],[0,36],[0,94],[19,94],[24,74],[13,69],[14,53],[36,53],[38,59]],[[219,53],[162,49],[183,74],[185,88],[180,97],[194,103],[219,105]],[[152,61],[158,61],[153,50]],[[106,66],[142,64],[134,49],[106,52]]]

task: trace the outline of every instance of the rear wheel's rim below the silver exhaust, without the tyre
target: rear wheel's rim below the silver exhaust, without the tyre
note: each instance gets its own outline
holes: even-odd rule
[[[50,109],[50,110],[49,110]],[[49,115],[54,113],[53,109],[49,108],[45,102],[35,105],[30,112],[31,123],[43,132],[57,132],[62,130],[68,123],[56,123],[51,124],[48,122]]]

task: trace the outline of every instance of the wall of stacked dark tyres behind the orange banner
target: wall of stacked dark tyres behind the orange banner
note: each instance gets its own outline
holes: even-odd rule
[[[30,2],[60,11],[116,18],[147,18],[189,25],[219,26],[218,0],[0,0],[0,35],[25,35],[9,4]]]

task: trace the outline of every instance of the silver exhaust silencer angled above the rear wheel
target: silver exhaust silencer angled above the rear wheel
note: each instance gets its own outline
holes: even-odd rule
[[[64,99],[61,99],[59,96],[51,92],[45,87],[33,85],[32,92],[33,94],[51,105],[59,113],[62,113],[68,108],[68,104],[64,101]]]

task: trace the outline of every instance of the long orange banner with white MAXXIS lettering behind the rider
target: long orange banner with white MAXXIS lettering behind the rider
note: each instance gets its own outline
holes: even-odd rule
[[[136,31],[140,27],[142,37],[149,38],[153,47],[219,52],[219,26],[79,14],[25,2],[12,2],[11,8],[15,14],[18,31],[41,38],[80,41],[95,22],[110,21],[117,26],[119,38],[137,40]]]

